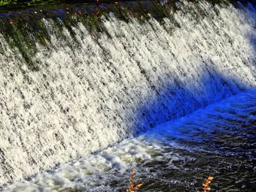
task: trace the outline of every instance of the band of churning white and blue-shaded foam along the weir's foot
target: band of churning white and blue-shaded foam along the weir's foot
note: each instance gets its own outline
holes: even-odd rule
[[[109,186],[111,181],[115,180],[113,175],[119,179],[122,177],[123,180],[127,178],[128,183],[127,174],[132,168],[140,169],[141,165],[154,165],[154,161],[164,161],[165,166],[178,169],[175,161],[185,162],[191,157],[181,156],[173,149],[195,151],[195,153],[203,151],[209,154],[219,153],[219,151],[206,149],[195,143],[182,145],[176,142],[176,139],[196,141],[200,139],[200,135],[205,137],[214,131],[225,132],[227,131],[225,128],[217,125],[233,126],[225,120],[242,120],[239,118],[241,115],[244,115],[246,120],[255,119],[255,116],[249,115],[249,112],[256,110],[255,95],[256,90],[240,93],[197,110],[187,117],[162,123],[138,137],[125,139],[113,147],[108,147],[86,158],[61,164],[57,169],[38,174],[29,182],[8,185],[4,191],[61,191],[69,188],[81,191],[115,191],[116,188]],[[217,118],[218,115],[222,118]],[[232,134],[232,131],[228,134]],[[238,133],[233,134],[238,136]],[[225,155],[227,153],[225,152]]]

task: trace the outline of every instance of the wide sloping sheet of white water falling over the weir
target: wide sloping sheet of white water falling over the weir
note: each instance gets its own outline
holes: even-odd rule
[[[1,15],[1,185],[255,88],[252,4],[152,6]]]

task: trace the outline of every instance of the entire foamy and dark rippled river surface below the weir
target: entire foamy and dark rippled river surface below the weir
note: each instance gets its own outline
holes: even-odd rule
[[[256,190],[256,91],[159,125],[88,158],[39,174],[7,191],[126,191],[130,170],[139,191]]]

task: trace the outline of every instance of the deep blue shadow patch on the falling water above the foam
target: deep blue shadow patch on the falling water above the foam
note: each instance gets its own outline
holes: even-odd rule
[[[250,88],[238,77],[225,77],[214,69],[206,69],[202,74],[190,85],[174,79],[172,83],[164,85],[155,98],[148,98],[147,104],[137,114],[138,133]]]

